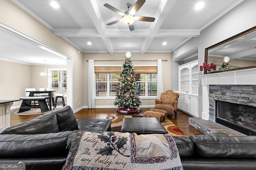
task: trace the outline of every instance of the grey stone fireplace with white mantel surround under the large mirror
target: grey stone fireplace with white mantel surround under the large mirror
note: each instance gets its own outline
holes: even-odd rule
[[[231,125],[235,122],[238,128],[243,126],[245,129],[252,130],[247,134],[242,132],[246,135],[256,132],[254,128],[256,126],[256,68],[205,74],[200,75],[199,78],[202,84],[202,119],[220,124],[224,121],[227,127],[229,127],[225,124],[227,121]],[[225,102],[231,105],[224,106]],[[218,110],[223,111],[223,109],[229,110],[218,113]],[[232,111],[234,113],[231,113]],[[238,131],[236,127],[229,128]]]

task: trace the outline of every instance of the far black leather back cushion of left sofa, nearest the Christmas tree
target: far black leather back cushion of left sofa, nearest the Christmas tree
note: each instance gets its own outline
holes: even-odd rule
[[[60,131],[74,131],[78,128],[72,107],[64,106],[54,113],[57,116]]]

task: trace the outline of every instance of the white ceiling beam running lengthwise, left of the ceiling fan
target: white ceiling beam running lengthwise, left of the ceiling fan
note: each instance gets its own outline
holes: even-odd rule
[[[104,21],[102,19],[100,9],[98,7],[98,4],[96,0],[82,0],[79,1],[82,2],[82,5],[90,15],[90,18],[92,19],[92,22],[94,23],[98,33],[100,34],[100,37],[102,38],[102,41],[106,45],[108,51],[110,54],[114,54],[114,47],[110,41],[109,37],[106,37],[105,30],[106,27],[104,25]]]

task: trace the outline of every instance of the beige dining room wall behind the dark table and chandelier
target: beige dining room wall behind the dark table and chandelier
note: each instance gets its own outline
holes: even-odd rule
[[[47,66],[47,68],[66,68],[66,66]],[[41,77],[44,66],[31,66],[0,60],[0,100],[16,100],[25,96],[25,88],[48,87],[47,77]],[[66,100],[65,100],[66,102]],[[12,107],[20,106],[21,101]]]

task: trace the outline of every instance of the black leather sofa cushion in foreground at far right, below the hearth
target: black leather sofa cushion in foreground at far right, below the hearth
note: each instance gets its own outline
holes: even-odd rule
[[[255,136],[190,136],[194,153],[207,158],[256,158]]]

